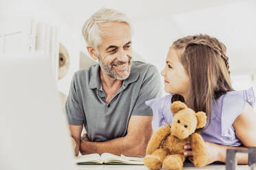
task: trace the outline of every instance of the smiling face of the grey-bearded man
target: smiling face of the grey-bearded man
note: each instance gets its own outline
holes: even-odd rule
[[[98,47],[100,69],[109,77],[125,80],[131,69],[131,30],[126,23],[107,22],[100,25]]]

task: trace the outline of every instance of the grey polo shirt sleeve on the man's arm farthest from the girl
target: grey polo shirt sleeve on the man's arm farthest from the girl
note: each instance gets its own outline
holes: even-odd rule
[[[67,96],[65,104],[65,111],[67,114],[67,120],[70,125],[83,125],[83,112],[81,105],[78,102],[78,95],[76,93],[76,75],[72,78],[70,85],[70,93]]]

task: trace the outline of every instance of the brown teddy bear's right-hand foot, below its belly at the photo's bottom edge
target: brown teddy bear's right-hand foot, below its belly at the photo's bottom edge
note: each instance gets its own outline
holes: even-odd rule
[[[183,167],[183,162],[174,156],[168,156],[164,159],[163,165],[169,170],[180,170]]]

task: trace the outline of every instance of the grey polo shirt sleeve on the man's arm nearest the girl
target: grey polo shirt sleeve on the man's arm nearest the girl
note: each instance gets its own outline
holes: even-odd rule
[[[153,115],[151,108],[145,104],[145,101],[160,97],[160,95],[160,74],[156,66],[151,65],[145,74],[134,110],[132,111],[131,115]]]

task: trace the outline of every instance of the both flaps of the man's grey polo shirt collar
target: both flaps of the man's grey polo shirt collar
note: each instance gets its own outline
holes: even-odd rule
[[[134,66],[134,62],[133,62],[131,64],[130,75],[129,77],[127,77],[126,80],[122,82],[122,86],[126,88],[129,84],[136,82],[136,80],[138,80],[139,75],[140,73],[136,69],[136,66]],[[99,64],[96,64],[94,68],[92,68],[91,78],[89,81],[89,88],[98,88],[98,90],[103,90],[103,87],[100,82],[100,65]]]

